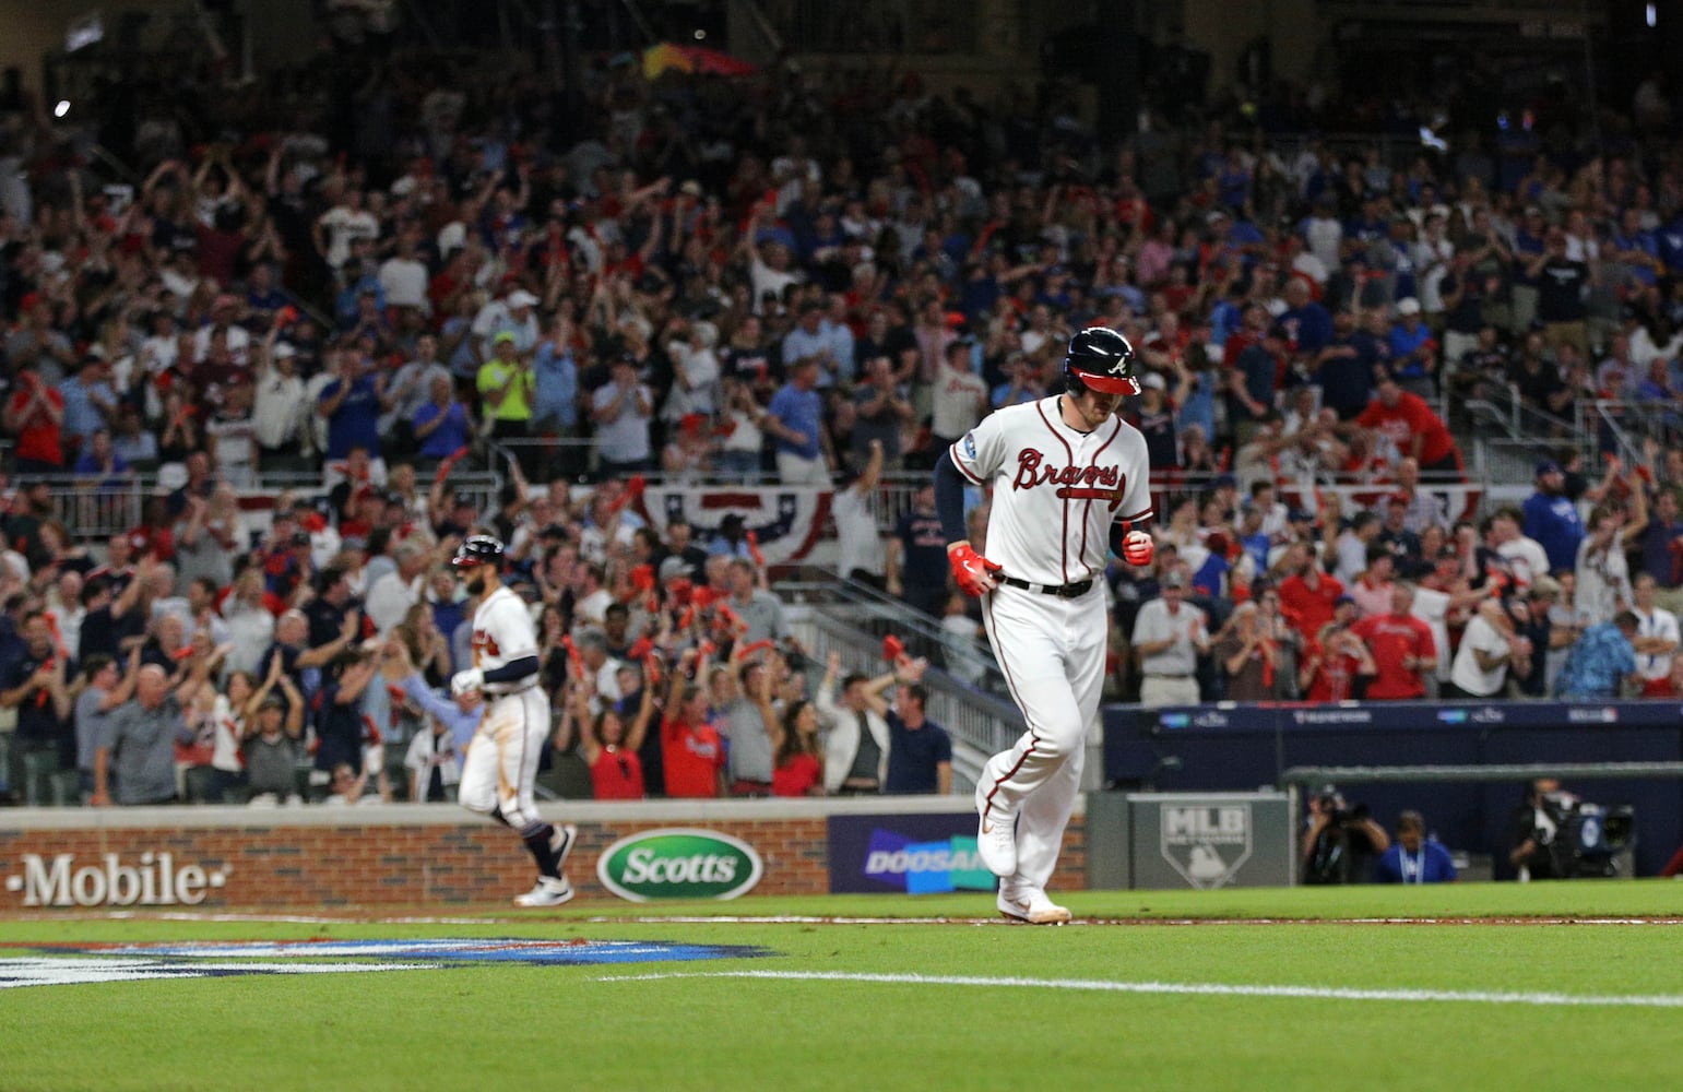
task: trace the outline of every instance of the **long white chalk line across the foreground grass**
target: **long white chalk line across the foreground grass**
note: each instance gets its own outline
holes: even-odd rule
[[[867,974],[853,971],[678,971],[609,974],[601,983],[650,983],[668,978],[759,978],[786,981],[889,983],[909,986],[990,986],[1087,989],[1094,993],[1166,993],[1224,998],[1309,998],[1318,1001],[1461,1001],[1468,1005],[1575,1005],[1597,1008],[1683,1008],[1680,994],[1498,993],[1488,989],[1355,989],[1350,986],[1245,986],[1230,983],[1106,983],[1082,978],[978,978],[969,974]]]

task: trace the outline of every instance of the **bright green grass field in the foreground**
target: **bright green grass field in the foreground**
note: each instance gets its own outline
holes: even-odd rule
[[[980,895],[0,920],[0,981],[42,956],[32,949],[74,944],[523,937],[771,952],[0,989],[0,1089],[1683,1087],[1683,925],[1619,924],[1683,914],[1683,885],[1067,904],[1077,924],[1060,929],[995,924]],[[688,920],[710,915],[843,920]]]

